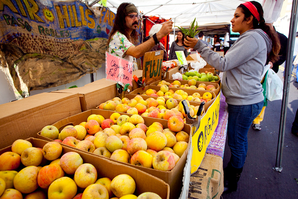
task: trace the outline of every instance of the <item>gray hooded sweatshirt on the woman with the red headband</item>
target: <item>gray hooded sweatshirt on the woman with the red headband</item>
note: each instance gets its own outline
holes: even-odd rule
[[[260,82],[272,43],[263,30],[254,29],[243,33],[224,57],[207,48],[201,41],[197,42],[194,49],[208,64],[224,72],[221,89],[226,103],[249,105],[264,100]]]

